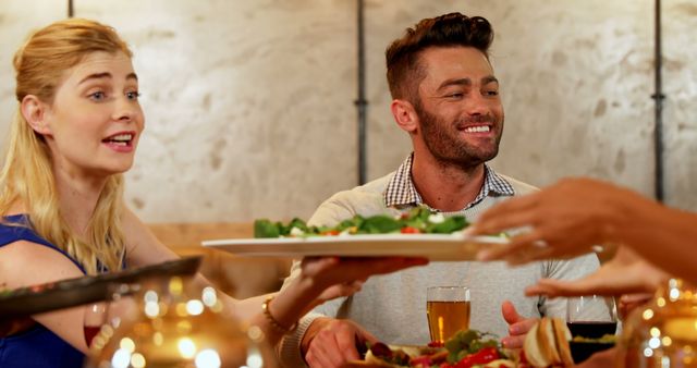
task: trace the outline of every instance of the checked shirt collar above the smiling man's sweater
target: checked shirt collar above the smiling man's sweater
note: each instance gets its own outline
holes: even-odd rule
[[[402,207],[402,206],[420,206],[424,205],[421,196],[416,191],[414,182],[412,181],[412,164],[414,162],[414,154],[412,152],[400,168],[394,172],[394,175],[388,183],[387,188],[382,193],[382,199],[386,207]],[[493,169],[489,168],[485,163],[485,179],[484,185],[479,191],[477,197],[469,203],[463,210],[468,209],[487,196],[513,196],[515,191],[511,183],[509,183],[501,175],[497,174]]]

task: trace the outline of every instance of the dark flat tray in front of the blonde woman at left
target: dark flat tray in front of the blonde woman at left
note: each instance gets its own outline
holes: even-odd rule
[[[0,291],[0,319],[30,316],[56,309],[106,300],[111,285],[137,283],[154,277],[196,273],[201,257],[187,257],[120,272],[87,275],[40,285]]]

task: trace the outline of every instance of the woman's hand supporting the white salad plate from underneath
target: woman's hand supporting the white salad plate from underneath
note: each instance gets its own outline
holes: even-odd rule
[[[306,257],[301,265],[301,277],[311,279],[317,287],[323,290],[317,300],[319,304],[358,292],[370,275],[427,263],[428,259],[408,257]]]

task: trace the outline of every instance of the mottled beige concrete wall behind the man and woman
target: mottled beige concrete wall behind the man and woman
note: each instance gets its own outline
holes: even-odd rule
[[[350,0],[75,0],[132,45],[147,128],[127,201],[148,222],[309,217],[357,182],[356,7]],[[653,193],[653,1],[366,0],[368,177],[409,143],[389,114],[384,48],[450,11],[497,32],[506,127],[494,168],[543,186],[590,175]],[[0,131],[11,58],[63,1],[0,4]],[[697,3],[663,1],[669,205],[697,210]]]

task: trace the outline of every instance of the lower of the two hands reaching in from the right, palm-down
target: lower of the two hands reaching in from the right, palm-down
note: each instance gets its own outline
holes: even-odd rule
[[[583,279],[542,279],[536,285],[528,286],[525,294],[558,297],[652,293],[667,279],[667,273],[639,258],[632,249],[622,246],[613,259]]]

